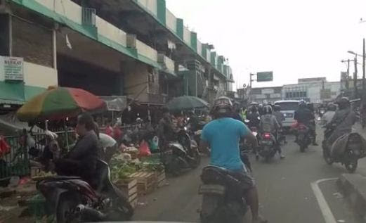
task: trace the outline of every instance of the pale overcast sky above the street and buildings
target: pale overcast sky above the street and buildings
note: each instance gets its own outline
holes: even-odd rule
[[[348,50],[362,54],[366,37],[366,23],[359,23],[365,0],[167,0],[167,7],[229,58],[238,86],[249,72],[269,70],[274,82],[265,86],[303,77],[339,81],[346,70],[340,61],[353,58]]]

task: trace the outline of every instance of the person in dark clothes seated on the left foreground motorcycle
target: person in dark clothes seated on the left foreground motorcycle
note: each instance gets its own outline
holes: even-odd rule
[[[87,113],[79,115],[75,131],[79,135],[77,144],[65,158],[54,161],[55,172],[81,177],[91,186],[96,186],[96,163],[100,159],[100,146],[93,117]]]

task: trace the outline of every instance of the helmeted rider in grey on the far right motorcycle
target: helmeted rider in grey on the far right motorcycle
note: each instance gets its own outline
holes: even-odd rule
[[[355,125],[357,120],[355,112],[351,109],[351,103],[348,98],[340,98],[336,102],[338,104],[339,110],[336,111],[334,117],[327,128],[334,129],[332,134],[327,139],[327,145],[332,146],[334,141],[344,134],[352,132],[352,126]]]

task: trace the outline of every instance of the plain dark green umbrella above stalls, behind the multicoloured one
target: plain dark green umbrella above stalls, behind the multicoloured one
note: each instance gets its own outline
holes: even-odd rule
[[[166,103],[169,110],[190,110],[194,108],[209,108],[209,103],[195,96],[181,96]]]

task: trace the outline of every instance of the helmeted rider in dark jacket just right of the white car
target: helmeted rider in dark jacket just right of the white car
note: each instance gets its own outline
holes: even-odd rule
[[[316,134],[315,134],[315,115],[308,109],[306,102],[301,100],[299,102],[299,109],[295,111],[294,120],[298,123],[306,125],[310,129],[311,134],[313,135],[313,146],[318,146],[316,143]],[[297,141],[297,134],[296,134]]]

